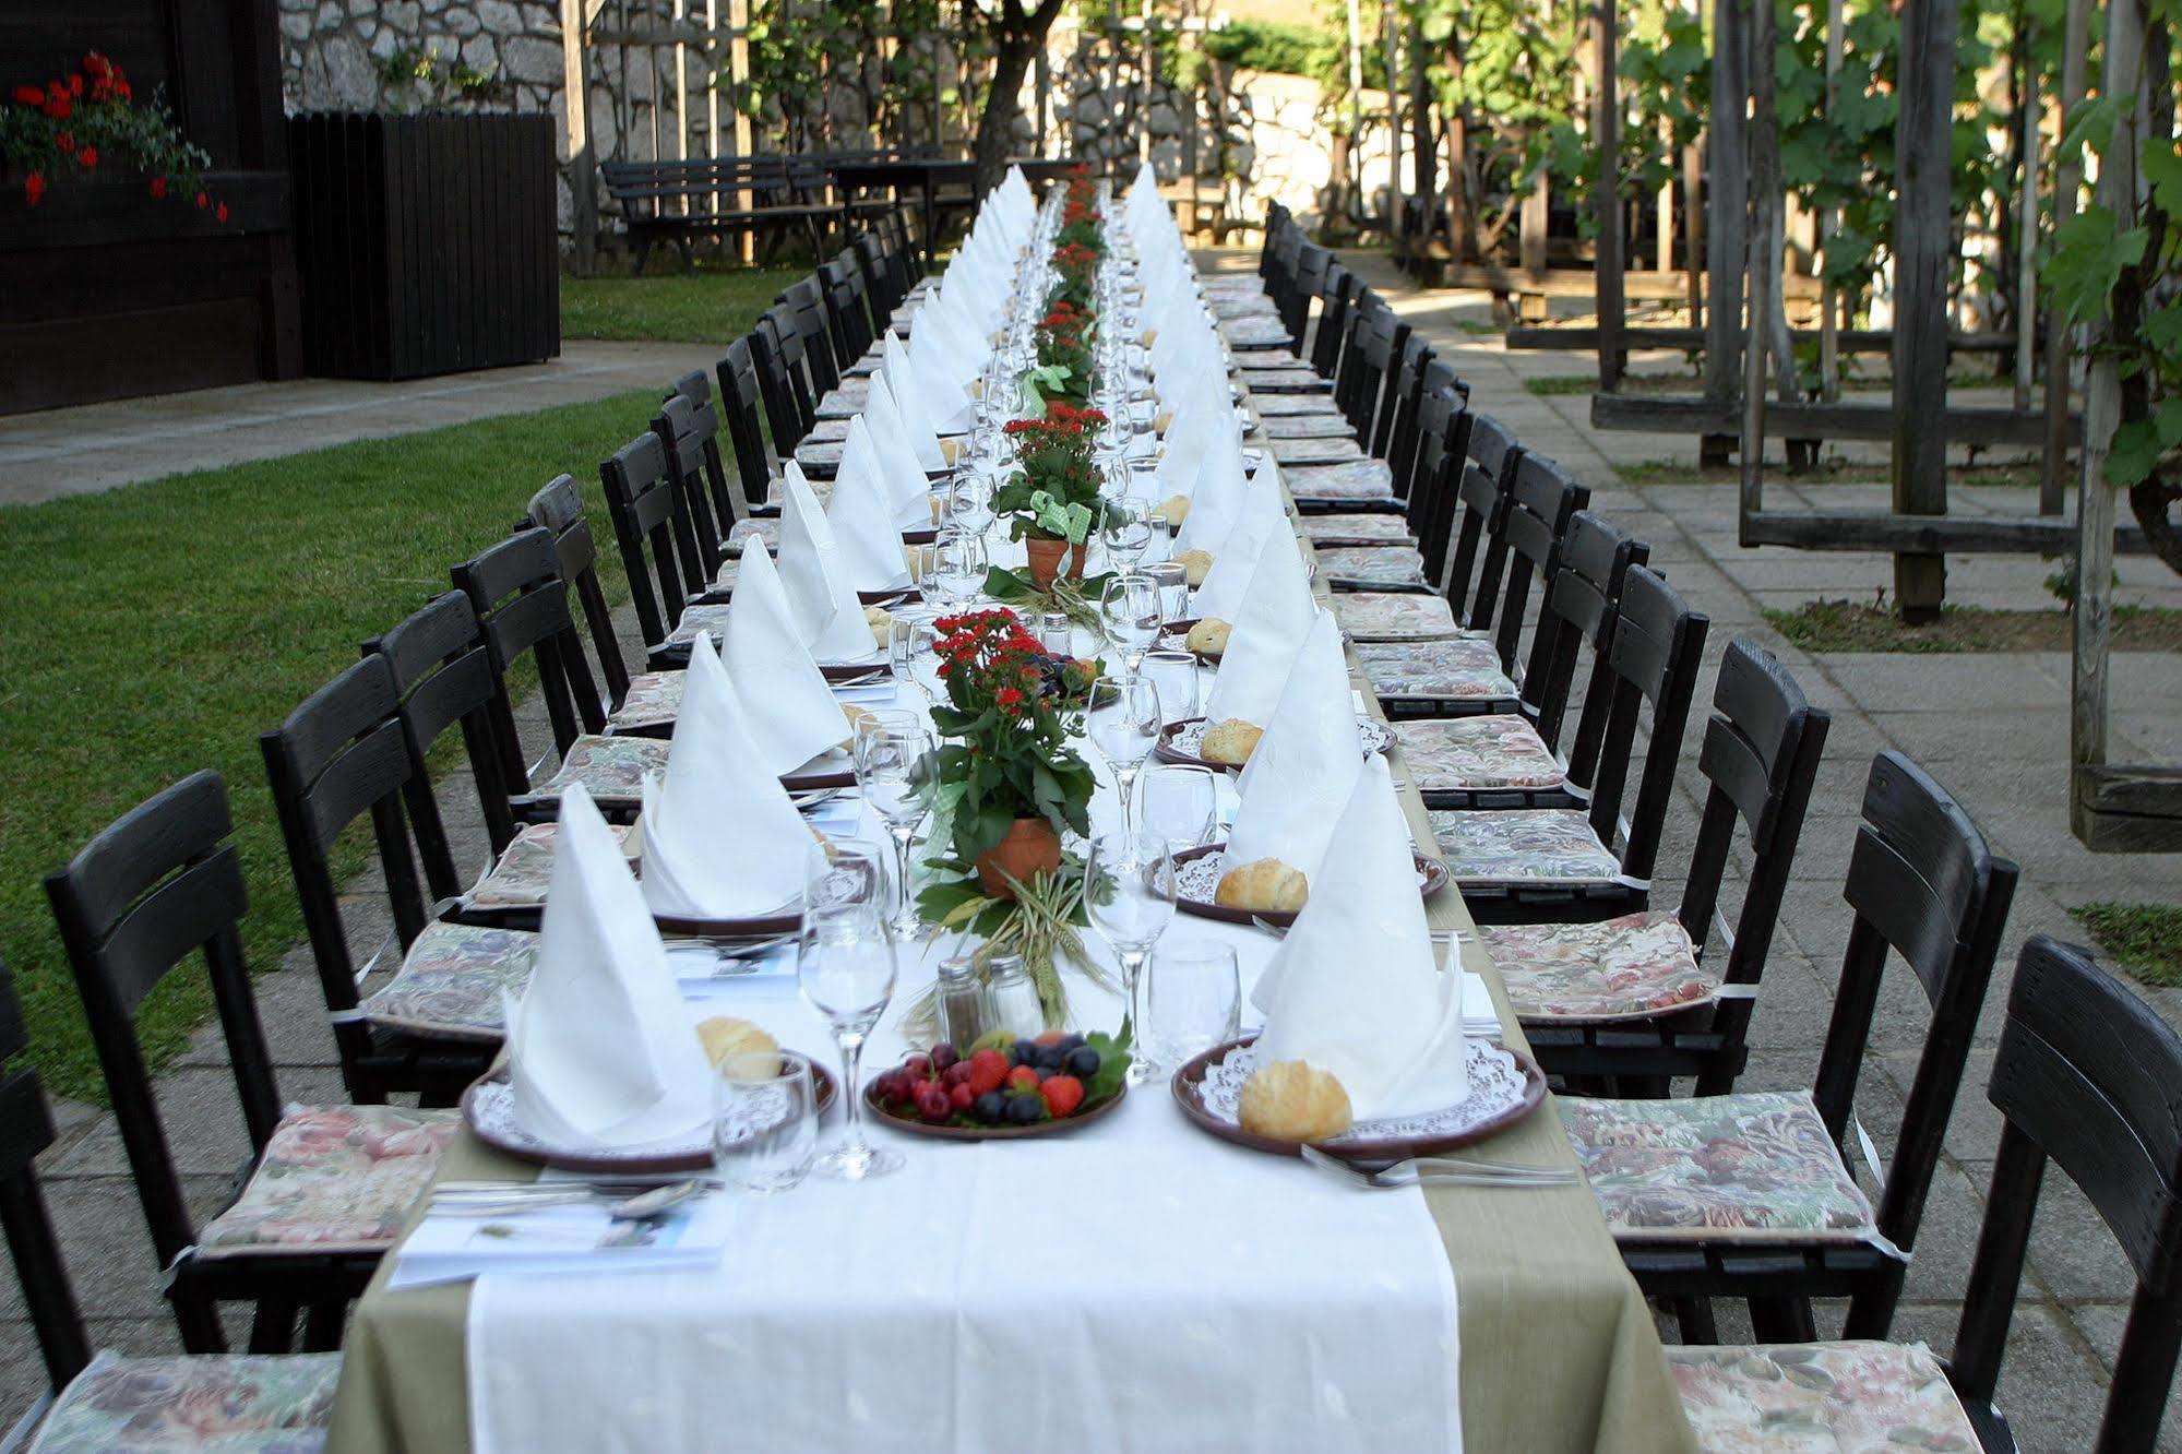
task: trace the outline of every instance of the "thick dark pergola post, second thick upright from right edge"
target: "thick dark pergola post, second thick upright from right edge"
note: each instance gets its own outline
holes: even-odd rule
[[[1903,515],[1946,513],[1955,31],[1955,0],[1903,0],[1894,124],[1894,509]],[[1944,555],[1894,557],[1894,600],[1905,622],[1938,620],[1944,598]]]

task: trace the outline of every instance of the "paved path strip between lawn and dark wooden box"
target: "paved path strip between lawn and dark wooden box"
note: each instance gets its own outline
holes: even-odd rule
[[[561,358],[519,369],[397,384],[303,378],[0,415],[0,504],[89,496],[349,439],[583,404],[657,389],[690,369],[711,369],[718,358],[718,347],[698,343],[576,338],[561,345]]]

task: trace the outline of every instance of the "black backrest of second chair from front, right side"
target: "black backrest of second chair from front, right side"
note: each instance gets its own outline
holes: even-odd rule
[[[1623,592],[1623,600],[1626,596]],[[1863,784],[1863,823],[1848,851],[1848,882],[1842,889],[1855,921],[1833,993],[1833,1020],[1820,1050],[1813,1098],[1839,1146],[1855,1109],[1857,1074],[1870,1050],[1872,1013],[1879,1006],[1879,980],[1892,950],[1909,965],[1931,1006],[1925,1052],[1909,1085],[1877,1207],[1879,1231],[1903,1251],[1916,1242],[1925,1216],[1925,1194],[1955,1111],[1955,1092],[1962,1087],[1962,1068],[2014,893],[2016,865],[1992,856],[1977,823],[1946,788],[1898,751],[1872,758],[1872,773]],[[1896,1277],[1855,1297],[1844,1336],[1885,1336],[1901,1297],[1898,1273],[1901,1268]]]

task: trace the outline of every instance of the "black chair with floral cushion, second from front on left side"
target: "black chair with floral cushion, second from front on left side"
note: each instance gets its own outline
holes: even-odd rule
[[[384,664],[373,677],[386,686]],[[399,775],[386,773],[380,760],[401,764],[401,744],[393,736],[380,742],[393,751],[360,744],[356,773],[338,773],[336,764],[338,777],[314,784],[319,790],[301,803],[284,806],[284,821],[290,806],[334,819],[375,782],[388,784],[384,801],[393,803]],[[397,810],[386,817],[399,832]],[[249,1301],[257,1306],[253,1351],[292,1347],[303,1308],[310,1310],[305,1345],[334,1349],[349,1299],[364,1290],[395,1244],[441,1151],[454,1140],[458,1116],[393,1105],[281,1109],[242,963],[242,860],[227,843],[231,832],[218,773],[196,773],[92,838],[65,869],[46,875],[46,893],[76,972],[183,1347],[223,1351],[218,1303]],[[412,878],[408,889],[415,893]],[[251,1140],[233,1199],[203,1225],[190,1214],[135,1033],[144,998],[199,952]]]

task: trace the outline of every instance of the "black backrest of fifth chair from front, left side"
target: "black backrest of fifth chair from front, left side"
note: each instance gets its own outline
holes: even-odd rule
[[[646,434],[644,439],[652,439]],[[652,445],[657,448],[657,439]],[[607,710],[598,701],[591,668],[583,662],[583,640],[567,609],[567,581],[554,552],[552,531],[517,531],[487,546],[452,572],[454,587],[469,596],[484,631],[487,659],[500,692],[493,699],[493,753],[508,795],[530,790],[532,764],[515,731],[515,705],[508,699],[508,670],[526,655],[537,664],[539,694],[552,723],[554,749],[565,753],[585,731],[602,731]],[[637,581],[631,574],[631,589]]]

